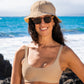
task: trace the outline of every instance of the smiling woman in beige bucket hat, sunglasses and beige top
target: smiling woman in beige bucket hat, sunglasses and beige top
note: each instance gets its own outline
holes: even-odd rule
[[[84,65],[65,45],[61,20],[55,12],[51,2],[41,0],[32,5],[30,15],[24,18],[33,41],[16,52],[11,84],[59,84],[66,68],[84,82]]]

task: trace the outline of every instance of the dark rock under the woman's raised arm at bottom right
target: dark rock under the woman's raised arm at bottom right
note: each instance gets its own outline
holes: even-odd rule
[[[59,84],[83,84],[83,82],[70,69],[63,71]]]

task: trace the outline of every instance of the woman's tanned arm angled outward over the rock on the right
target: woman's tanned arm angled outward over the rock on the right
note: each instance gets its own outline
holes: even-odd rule
[[[84,83],[84,64],[80,61],[78,56],[68,47],[66,61],[68,68],[70,68]]]

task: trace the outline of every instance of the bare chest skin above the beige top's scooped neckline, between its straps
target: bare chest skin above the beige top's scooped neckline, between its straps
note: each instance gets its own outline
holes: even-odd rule
[[[56,49],[29,49],[28,64],[34,67],[46,67],[57,57]]]

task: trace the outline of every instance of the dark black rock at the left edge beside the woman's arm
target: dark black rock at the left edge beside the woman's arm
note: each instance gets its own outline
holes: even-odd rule
[[[0,84],[10,84],[12,65],[0,54]]]

